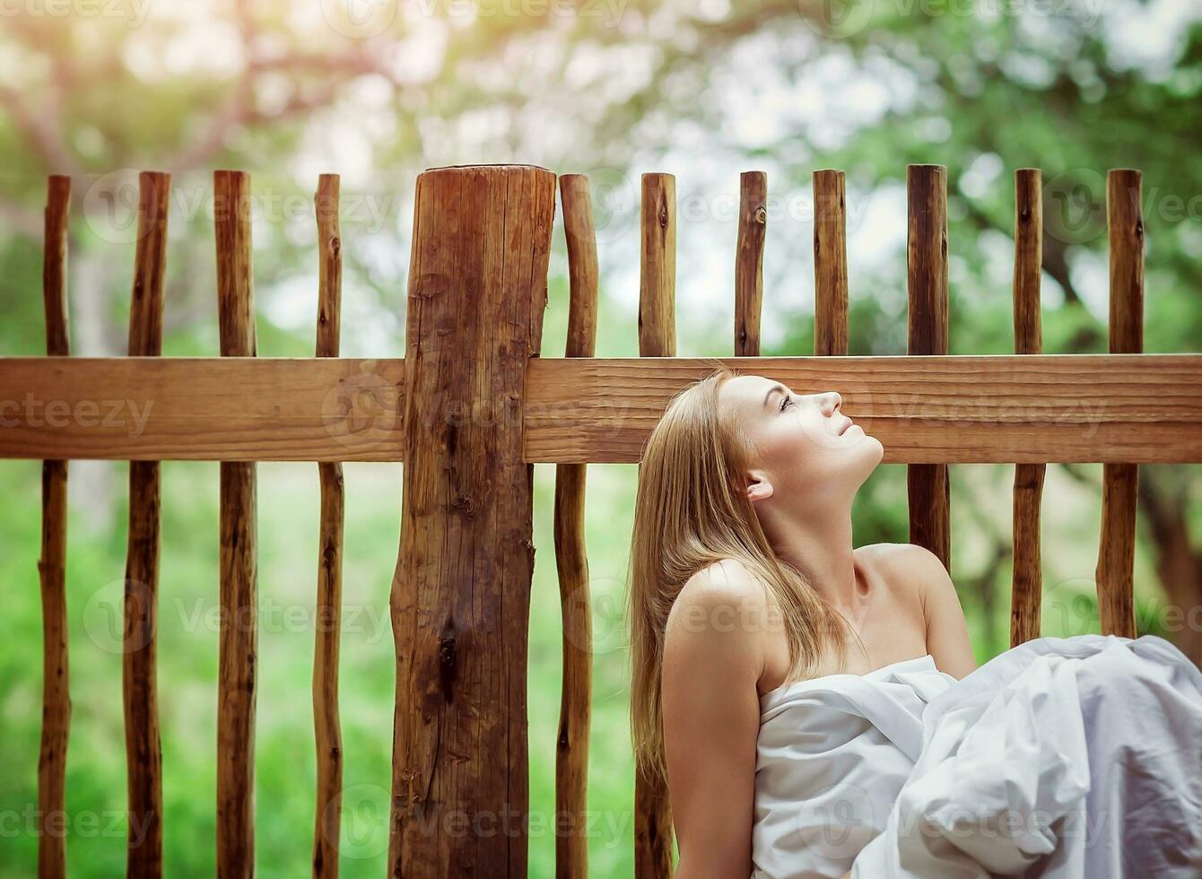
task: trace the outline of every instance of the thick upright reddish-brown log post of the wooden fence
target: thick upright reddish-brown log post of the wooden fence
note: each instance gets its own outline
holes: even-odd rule
[[[525,877],[534,465],[522,450],[555,176],[417,178],[388,875]]]

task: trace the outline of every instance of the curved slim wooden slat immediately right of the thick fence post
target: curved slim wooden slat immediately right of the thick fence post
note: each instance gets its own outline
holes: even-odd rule
[[[559,178],[567,240],[570,304],[565,357],[591,357],[597,328],[597,242],[589,178]],[[584,489],[588,464],[555,464],[555,565],[564,620],[564,687],[555,738],[555,814],[569,815],[567,832],[555,836],[555,875],[588,875],[589,727],[593,696],[593,618],[589,560],[584,545]]]

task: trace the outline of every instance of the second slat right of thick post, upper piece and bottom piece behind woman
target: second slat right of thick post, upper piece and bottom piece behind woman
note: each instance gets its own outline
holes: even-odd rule
[[[676,356],[676,178],[643,174],[638,354]],[[635,771],[635,879],[672,875],[667,785]]]

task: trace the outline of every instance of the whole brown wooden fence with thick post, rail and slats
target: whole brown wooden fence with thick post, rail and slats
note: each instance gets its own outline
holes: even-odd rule
[[[1011,642],[1040,630],[1040,500],[1046,462],[1103,462],[1097,593],[1103,632],[1135,635],[1131,593],[1137,467],[1202,461],[1202,355],[1142,354],[1143,224],[1138,171],[1107,178],[1109,350],[1041,355],[1039,170],[1014,173],[1014,340],[1005,356],[947,355],[947,177],[908,167],[909,344],[905,356],[847,356],[845,183],[814,173],[815,355],[760,357],[767,182],[742,176],[734,272],[734,357],[795,388],[837,387],[909,465],[910,539],[951,565],[947,465],[1016,463]],[[71,458],[132,462],[125,588],[124,703],[129,809],[148,831],[129,874],[162,872],[161,752],[155,614],[159,461],[221,462],[221,618],[218,682],[218,872],[254,873],[255,462],[317,462],[321,524],[314,726],[317,796],[313,872],[338,873],[341,742],[338,613],[344,461],[404,461],[400,552],[392,583],[397,691],[388,874],[525,875],[526,625],[534,566],[532,464],[557,464],[555,554],[564,619],[564,688],[555,809],[563,877],[587,873],[590,642],[583,539],[588,462],[637,462],[670,397],[714,358],[676,356],[676,190],[642,177],[637,358],[595,358],[596,236],[589,184],[559,178],[571,307],[565,358],[540,357],[555,182],[522,165],[433,168],[417,179],[403,360],[340,358],[341,240],[337,176],[322,176],[316,357],[258,358],[251,283],[250,179],[214,174],[221,357],[159,357],[169,179],[141,176],[129,357],[69,357],[66,230],[70,179],[52,177],[46,208],[47,357],[0,360],[10,417],[0,457],[43,459],[38,562],[44,713],[38,761],[38,872],[65,875],[63,836],[71,701],[64,586]],[[1039,355],[1039,356],[1031,356]],[[751,361],[750,358],[756,358]],[[143,429],[113,418],[29,417],[10,402],[78,414],[133,402]],[[153,403],[153,406],[149,404]],[[11,416],[16,408],[18,415]],[[386,730],[380,731],[387,735]],[[636,875],[672,871],[665,791],[636,779]],[[493,832],[429,832],[458,814]],[[424,819],[424,820],[423,820]],[[476,824],[477,819],[483,819]],[[438,827],[439,825],[433,825]]]

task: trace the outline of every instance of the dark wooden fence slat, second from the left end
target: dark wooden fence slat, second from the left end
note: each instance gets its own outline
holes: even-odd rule
[[[171,176],[138,176],[138,237],[130,298],[131,357],[162,354],[162,284],[167,266]],[[159,742],[159,462],[130,462],[121,684],[130,831],[126,874],[162,875],[162,748]]]

